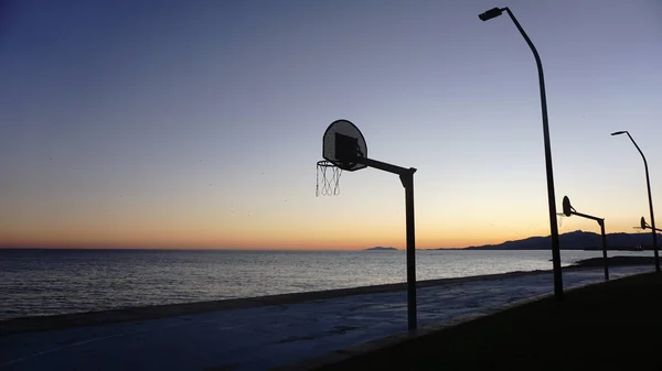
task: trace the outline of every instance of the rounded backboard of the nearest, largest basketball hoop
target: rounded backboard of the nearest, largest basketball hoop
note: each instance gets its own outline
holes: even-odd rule
[[[367,165],[356,162],[367,157],[367,144],[355,124],[348,120],[333,121],[322,137],[322,157],[345,171],[356,171]]]

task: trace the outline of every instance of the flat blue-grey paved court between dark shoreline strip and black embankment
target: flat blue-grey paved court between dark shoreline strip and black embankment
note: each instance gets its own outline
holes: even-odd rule
[[[600,268],[564,270],[566,287],[602,280]],[[548,295],[552,282],[549,271],[420,282],[419,331]],[[225,302],[2,321],[0,367],[264,370],[407,332],[402,284]]]

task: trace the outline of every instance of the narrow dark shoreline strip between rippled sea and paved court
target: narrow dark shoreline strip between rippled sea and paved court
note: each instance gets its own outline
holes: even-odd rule
[[[653,263],[652,257],[612,257],[610,265],[647,265]],[[579,261],[574,265],[564,266],[567,270],[589,270],[602,266],[602,258],[591,258]],[[418,281],[417,288],[459,284],[473,281],[502,280],[535,274],[551,274],[553,270],[516,271],[508,273],[493,273],[465,277],[436,279]],[[373,286],[349,288],[334,288],[314,292],[277,294],[268,296],[245,297],[234,299],[218,299],[209,302],[193,302],[179,304],[162,304],[140,307],[125,307],[97,312],[83,312],[61,315],[29,316],[0,320],[0,337],[20,332],[55,330],[74,327],[106,325],[115,323],[142,321],[166,317],[195,315],[210,312],[244,309],[269,305],[290,305],[303,302],[323,301],[335,297],[378,294],[396,291],[406,291],[407,283],[392,283]]]

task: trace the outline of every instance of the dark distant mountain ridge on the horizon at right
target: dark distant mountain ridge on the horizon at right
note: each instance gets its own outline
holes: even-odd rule
[[[607,233],[607,249],[633,250],[641,245],[651,249],[651,233]],[[658,234],[659,247],[662,245],[662,234]],[[600,234],[576,230],[558,237],[562,250],[600,249]],[[469,247],[462,250],[547,250],[552,245],[552,237],[530,237],[522,240],[505,241],[499,244]],[[647,249],[647,250],[648,250]]]

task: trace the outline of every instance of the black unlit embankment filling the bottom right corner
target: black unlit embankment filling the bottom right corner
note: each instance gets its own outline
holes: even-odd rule
[[[323,368],[660,370],[662,275],[567,291]]]

